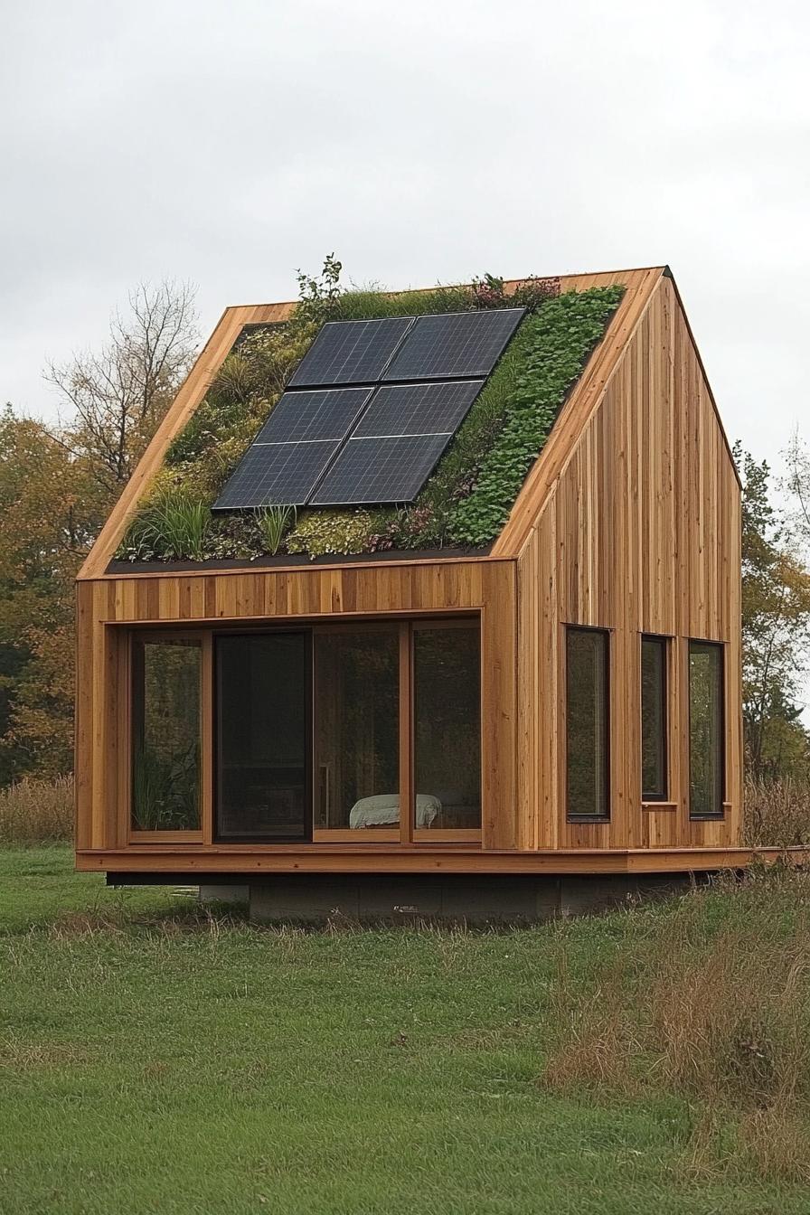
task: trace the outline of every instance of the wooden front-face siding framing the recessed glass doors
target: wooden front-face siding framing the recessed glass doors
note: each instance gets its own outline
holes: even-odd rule
[[[124,626],[434,618],[460,611],[481,615],[483,841],[492,848],[517,847],[515,600],[515,563],[493,560],[79,582],[78,849],[125,842],[124,792],[117,784],[129,722]]]

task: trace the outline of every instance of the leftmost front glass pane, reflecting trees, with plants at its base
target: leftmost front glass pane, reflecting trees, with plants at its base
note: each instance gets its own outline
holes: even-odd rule
[[[132,640],[134,831],[200,827],[202,646]]]

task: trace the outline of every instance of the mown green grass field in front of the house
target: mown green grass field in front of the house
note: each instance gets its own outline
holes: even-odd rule
[[[789,936],[803,895],[752,897]],[[305,933],[107,891],[66,847],[0,852],[0,1211],[806,1213],[800,1180],[698,1151],[699,1086],[642,1059],[631,1086],[577,1089],[571,1064],[600,976],[658,956],[679,916],[736,931],[746,898]]]

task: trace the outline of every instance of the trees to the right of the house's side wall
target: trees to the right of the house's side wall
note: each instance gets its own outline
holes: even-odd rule
[[[770,501],[770,468],[740,443],[742,648],[746,755],[755,776],[810,769],[810,738],[795,699],[810,635],[810,573]]]

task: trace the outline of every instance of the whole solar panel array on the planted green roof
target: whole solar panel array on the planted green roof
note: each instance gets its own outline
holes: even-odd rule
[[[328,322],[214,510],[413,502],[523,315]]]

